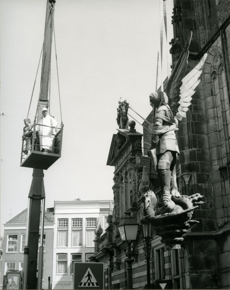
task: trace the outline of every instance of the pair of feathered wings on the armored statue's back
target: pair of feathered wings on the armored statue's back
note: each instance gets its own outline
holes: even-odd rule
[[[190,32],[189,38],[166,86],[169,106],[173,115],[176,115],[178,120],[186,117],[186,112],[189,110],[188,106],[191,105],[191,96],[195,93],[194,89],[200,82],[198,78],[201,75],[201,68],[207,57],[207,54],[205,54],[199,64],[184,77],[188,65],[189,45],[191,38],[192,32]]]

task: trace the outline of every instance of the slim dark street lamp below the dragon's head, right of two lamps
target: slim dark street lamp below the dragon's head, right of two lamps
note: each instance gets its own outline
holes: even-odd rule
[[[147,265],[147,289],[151,289],[150,259],[151,259],[151,240],[152,240],[151,230],[152,230],[152,225],[143,219],[143,220],[141,220],[141,228],[142,228],[142,234],[143,234],[142,238],[143,238],[146,265]]]

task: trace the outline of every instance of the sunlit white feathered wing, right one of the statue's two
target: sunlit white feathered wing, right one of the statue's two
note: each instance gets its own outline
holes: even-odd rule
[[[182,79],[182,86],[180,87],[180,100],[178,101],[178,112],[176,113],[176,117],[181,121],[182,118],[186,118],[186,112],[189,110],[189,106],[191,105],[190,101],[192,99],[192,95],[195,93],[195,88],[200,83],[200,79],[198,79],[202,73],[202,66],[207,57],[207,53],[204,54],[200,62],[195,66],[191,72],[189,72]]]

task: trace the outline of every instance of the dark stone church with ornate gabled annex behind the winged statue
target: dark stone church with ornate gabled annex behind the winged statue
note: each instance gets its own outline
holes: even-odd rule
[[[192,31],[186,74],[207,58],[186,119],[178,125],[177,184],[182,195],[200,193],[204,203],[194,211],[198,221],[184,235],[180,249],[169,250],[152,230],[150,278],[152,289],[229,289],[230,287],[230,1],[174,0],[171,40],[172,68]],[[165,81],[165,83],[167,80]],[[151,92],[150,92],[151,93]],[[130,100],[129,100],[130,101]],[[122,107],[122,104],[121,104]],[[123,124],[127,106],[123,105]],[[153,112],[147,117],[153,123]],[[119,125],[119,124],[118,124]],[[146,122],[143,125],[148,128]],[[120,125],[119,125],[120,126]],[[144,186],[148,182],[147,148],[151,134],[120,127],[112,137],[107,165],[114,166],[114,210],[109,226],[95,240],[95,262],[104,262],[105,289],[127,289],[127,244],[117,225],[124,212],[138,223],[143,218]],[[142,145],[142,141],[144,146]],[[154,192],[160,191],[151,173]],[[144,289],[147,269],[141,229],[132,244],[132,284]],[[217,289],[217,288],[216,288]]]

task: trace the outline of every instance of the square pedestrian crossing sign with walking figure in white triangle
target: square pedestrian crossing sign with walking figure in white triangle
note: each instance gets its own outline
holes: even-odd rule
[[[104,263],[74,263],[74,289],[104,289]]]

